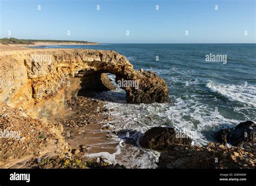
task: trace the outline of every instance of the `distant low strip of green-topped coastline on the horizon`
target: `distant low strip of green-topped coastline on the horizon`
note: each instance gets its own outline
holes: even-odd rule
[[[9,44],[35,45],[35,42],[77,42],[77,43],[83,43],[83,44],[93,43],[88,41],[71,41],[71,40],[39,40],[39,39],[16,39],[16,38],[0,39],[0,43],[4,45],[9,45]]]

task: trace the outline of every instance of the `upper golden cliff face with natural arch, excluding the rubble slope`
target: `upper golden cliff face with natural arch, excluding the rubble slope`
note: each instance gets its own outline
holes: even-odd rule
[[[77,74],[111,73],[136,80],[139,88],[121,87],[128,103],[166,102],[166,82],[151,72],[136,71],[125,56],[89,49],[31,49],[0,54],[0,102],[22,108],[55,96]]]

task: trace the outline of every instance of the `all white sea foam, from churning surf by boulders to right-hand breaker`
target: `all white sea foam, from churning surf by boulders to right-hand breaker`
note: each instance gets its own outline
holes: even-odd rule
[[[112,75],[111,77],[114,78]],[[174,80],[177,80],[177,78],[171,78],[172,82],[181,82]],[[199,84],[197,79],[188,82],[189,84]],[[226,94],[233,95],[232,89],[224,85],[209,82],[207,87],[221,91],[225,90]],[[242,86],[236,87],[235,90],[239,88],[241,89]],[[250,88],[255,90],[255,87],[248,87],[248,89]],[[253,98],[254,95],[250,91],[246,90],[241,95],[246,97],[244,93],[248,94],[249,92],[251,98]],[[201,97],[196,94],[172,96],[172,103],[153,104],[127,104],[125,102],[125,92],[120,88],[117,88],[116,91],[103,92],[101,96],[106,96],[113,101],[107,102],[105,108],[111,110],[109,115],[113,117],[113,120],[110,121],[113,125],[113,130],[123,131],[122,134],[113,135],[113,139],[123,142],[119,142],[117,153],[114,155],[106,153],[94,155],[103,155],[109,158],[111,162],[124,164],[127,168],[157,167],[156,162],[160,153],[142,148],[139,145],[139,138],[154,126],[173,127],[190,136],[193,140],[192,145],[205,145],[213,140],[212,132],[216,128],[220,128],[221,125],[225,127],[230,125],[232,127],[240,123],[240,120],[228,119],[221,114],[221,111],[219,112],[212,106],[201,102]],[[238,96],[238,98],[240,97]],[[240,109],[242,108],[236,108],[236,111],[240,111]],[[129,138],[126,137],[127,132],[130,133]],[[196,135],[190,135],[191,133]],[[130,140],[133,143],[129,142]]]

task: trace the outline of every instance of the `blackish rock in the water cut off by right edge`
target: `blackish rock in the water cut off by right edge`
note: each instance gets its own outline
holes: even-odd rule
[[[241,146],[244,142],[256,142],[256,124],[253,121],[245,121],[234,128],[225,128],[215,133],[215,139],[220,144],[227,143],[233,146]]]

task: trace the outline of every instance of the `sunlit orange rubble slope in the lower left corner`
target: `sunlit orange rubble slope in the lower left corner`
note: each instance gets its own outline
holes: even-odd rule
[[[44,153],[64,156],[70,147],[61,129],[0,102],[0,168]]]

